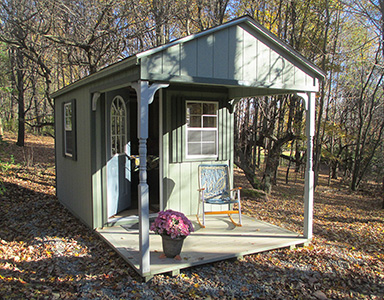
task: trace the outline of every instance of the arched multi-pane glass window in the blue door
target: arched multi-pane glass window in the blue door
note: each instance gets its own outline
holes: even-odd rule
[[[111,153],[124,153],[127,144],[126,107],[123,98],[116,96],[111,105]]]

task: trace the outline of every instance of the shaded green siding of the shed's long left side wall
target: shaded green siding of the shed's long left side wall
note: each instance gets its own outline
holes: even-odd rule
[[[97,75],[94,75],[97,76]],[[57,196],[74,215],[91,228],[101,227],[105,199],[105,135],[102,96],[92,111],[92,91],[111,91],[138,78],[138,68],[114,73],[55,96]],[[77,159],[65,158],[62,103],[76,99]]]

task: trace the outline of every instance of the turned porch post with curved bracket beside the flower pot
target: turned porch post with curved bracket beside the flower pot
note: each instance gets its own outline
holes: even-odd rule
[[[149,252],[149,188],[147,184],[147,138],[148,138],[148,106],[153,101],[156,91],[166,88],[169,84],[153,83],[148,81],[134,82],[132,84],[137,94],[137,137],[139,139],[139,247],[141,275],[151,271]]]

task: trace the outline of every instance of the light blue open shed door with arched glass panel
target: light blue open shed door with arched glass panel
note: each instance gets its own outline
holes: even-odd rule
[[[131,206],[131,142],[129,102],[120,95],[108,94],[107,123],[107,217]]]

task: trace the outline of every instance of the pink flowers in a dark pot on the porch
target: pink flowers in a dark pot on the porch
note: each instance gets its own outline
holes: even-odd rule
[[[183,213],[171,209],[159,212],[150,230],[161,235],[164,254],[169,258],[179,258],[184,239],[194,231]]]

